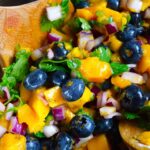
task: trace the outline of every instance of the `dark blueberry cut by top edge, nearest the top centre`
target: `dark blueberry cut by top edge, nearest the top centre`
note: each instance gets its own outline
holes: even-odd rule
[[[76,9],[89,7],[88,0],[71,0],[71,2],[73,3]]]

